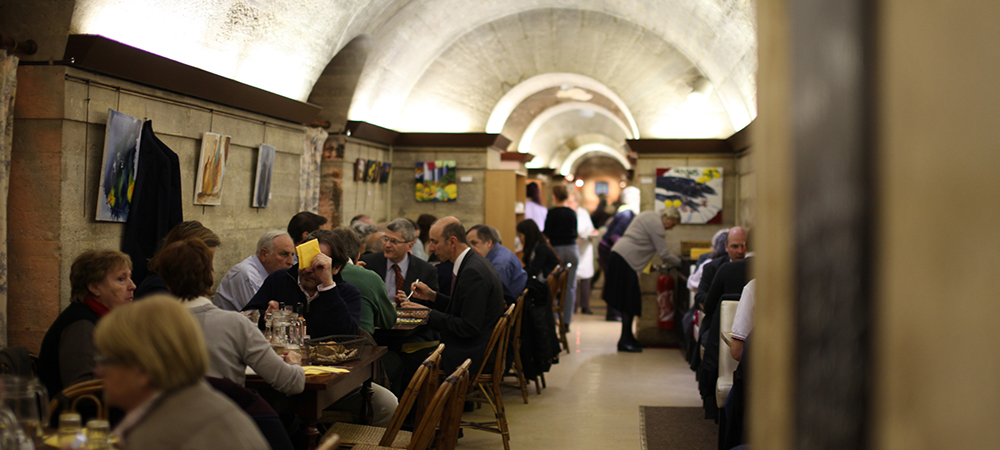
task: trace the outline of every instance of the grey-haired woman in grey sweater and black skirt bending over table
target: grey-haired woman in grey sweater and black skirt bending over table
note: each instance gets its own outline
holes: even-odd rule
[[[639,272],[649,264],[653,255],[660,255],[665,263],[680,265],[680,258],[667,248],[666,230],[681,222],[677,208],[661,212],[646,211],[636,216],[625,234],[615,243],[608,257],[608,271],[604,284],[604,301],[622,313],[622,334],[618,351],[641,352],[642,346],[632,334],[632,320],[642,315],[642,291]]]

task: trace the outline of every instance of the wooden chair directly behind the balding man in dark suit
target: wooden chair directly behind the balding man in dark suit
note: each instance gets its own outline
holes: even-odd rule
[[[503,407],[500,383],[503,381],[504,362],[507,359],[505,343],[507,342],[507,334],[510,332],[508,324],[514,314],[515,306],[510,305],[497,321],[496,326],[493,327],[493,334],[490,335],[489,343],[486,345],[486,353],[483,355],[483,363],[479,366],[476,375],[471,377],[469,381],[468,400],[489,403],[490,407],[493,408],[493,416],[497,420],[495,422],[462,422],[462,428],[499,434],[503,438],[504,450],[510,450],[510,432],[507,430],[507,413]],[[493,356],[493,373],[483,373],[490,356]]]

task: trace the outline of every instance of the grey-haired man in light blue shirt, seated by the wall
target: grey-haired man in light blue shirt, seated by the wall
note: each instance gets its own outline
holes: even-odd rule
[[[250,302],[264,279],[281,269],[292,267],[295,245],[288,233],[272,230],[257,241],[257,253],[233,266],[219,283],[212,303],[227,311],[240,311]]]

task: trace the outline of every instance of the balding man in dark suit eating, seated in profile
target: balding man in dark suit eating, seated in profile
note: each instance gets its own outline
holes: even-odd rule
[[[441,333],[445,345],[441,366],[445,373],[466,358],[472,367],[483,362],[490,334],[504,311],[503,283],[493,264],[466,243],[458,219],[445,217],[431,226],[430,249],[441,261],[455,264],[451,295],[435,292],[423,282],[414,283],[414,297],[430,305],[428,325]],[[404,307],[427,308],[405,302]]]

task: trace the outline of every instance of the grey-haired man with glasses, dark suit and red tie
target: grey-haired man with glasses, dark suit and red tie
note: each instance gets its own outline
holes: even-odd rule
[[[382,252],[361,256],[365,268],[382,277],[386,293],[389,298],[396,299],[397,303],[406,300],[410,294],[410,286],[416,280],[433,289],[438,287],[437,269],[410,254],[416,238],[417,230],[413,222],[403,218],[396,219],[389,222],[382,236]]]

